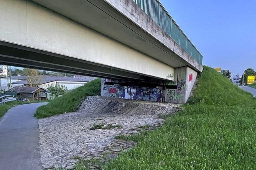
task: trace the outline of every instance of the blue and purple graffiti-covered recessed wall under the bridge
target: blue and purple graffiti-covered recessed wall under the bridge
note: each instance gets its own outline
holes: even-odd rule
[[[106,85],[106,83],[104,83],[104,79],[102,80],[103,80],[102,96],[117,97],[120,99],[162,102],[162,99],[163,99],[162,87],[147,88],[147,87]]]

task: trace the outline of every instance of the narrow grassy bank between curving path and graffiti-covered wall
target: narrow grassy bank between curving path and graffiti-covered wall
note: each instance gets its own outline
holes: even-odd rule
[[[100,91],[100,79],[93,80],[61,97],[51,100],[47,105],[39,107],[34,116],[37,119],[42,119],[76,111],[78,105],[80,105],[87,96],[100,95]]]

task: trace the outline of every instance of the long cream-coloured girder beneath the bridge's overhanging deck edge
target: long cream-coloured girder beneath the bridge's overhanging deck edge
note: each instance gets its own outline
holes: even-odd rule
[[[111,75],[114,75],[112,77],[173,80],[170,75],[174,74],[174,67],[30,0],[0,0],[0,4],[0,21],[2,23],[0,25],[0,40],[2,44],[9,42],[46,51],[52,53],[52,55],[66,56],[54,60],[54,57],[45,54],[35,53],[34,57],[32,55],[17,57],[17,55],[12,56],[10,53],[3,52],[0,54],[2,61],[7,58],[15,58],[16,61],[19,59],[34,61],[40,63],[38,65],[43,68],[42,63],[61,67],[63,65],[61,62],[68,58],[72,62],[65,63],[66,68],[63,67],[63,69],[72,68],[72,64],[74,65],[76,60],[80,60],[81,62],[80,64],[77,63],[76,68],[102,73],[102,76],[110,75],[111,77]],[[2,49],[4,49],[4,46],[2,46]],[[32,59],[29,59],[29,57],[32,57]],[[59,61],[59,63],[54,63],[56,61]],[[84,65],[87,68],[83,68],[82,64],[84,63],[82,61],[87,63],[87,65]],[[5,63],[8,62],[10,61],[5,61]],[[12,63],[17,65],[17,62]],[[99,67],[98,69],[92,69],[88,63],[93,63],[94,67],[96,65]],[[20,64],[20,66],[22,65]],[[110,69],[112,69],[111,73],[109,73]],[[70,69],[67,70],[70,71]],[[116,73],[113,70],[116,70]],[[120,72],[128,73],[130,76]],[[100,74],[98,75],[100,77]]]

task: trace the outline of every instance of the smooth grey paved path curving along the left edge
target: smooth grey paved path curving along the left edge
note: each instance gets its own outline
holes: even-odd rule
[[[0,170],[41,170],[38,121],[34,113],[46,103],[19,105],[0,119]]]

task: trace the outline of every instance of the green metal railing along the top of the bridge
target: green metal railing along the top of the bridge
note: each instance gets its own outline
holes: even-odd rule
[[[172,19],[159,0],[133,0],[156,24],[158,24],[176,43],[202,64],[203,56]]]

